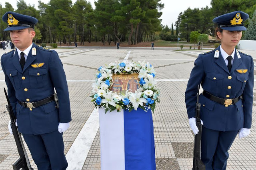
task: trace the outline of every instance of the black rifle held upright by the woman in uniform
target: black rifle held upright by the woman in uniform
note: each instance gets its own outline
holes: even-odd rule
[[[197,101],[196,101],[196,126],[199,132],[195,135],[194,140],[194,157],[193,157],[193,168],[192,170],[205,170],[205,165],[201,160],[201,134],[202,134],[202,124],[200,120],[200,107],[199,103],[199,89],[200,85],[197,87]]]

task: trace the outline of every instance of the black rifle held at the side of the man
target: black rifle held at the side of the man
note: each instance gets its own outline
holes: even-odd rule
[[[16,122],[15,122],[16,117],[14,116],[12,106],[10,104],[10,100],[9,100],[9,97],[6,93],[5,88],[4,88],[4,93],[5,93],[5,96],[6,96],[6,99],[7,99],[7,103],[8,103],[8,105],[6,105],[6,108],[9,112],[10,119],[11,119],[12,133],[13,133],[13,136],[14,136],[14,140],[16,142],[18,153],[20,155],[20,158],[12,165],[12,168],[14,170],[20,170],[20,168],[22,168],[22,170],[33,170],[33,168],[30,165],[30,162],[28,160],[28,155],[27,155],[26,149],[24,147],[24,144],[22,142],[21,134],[19,133],[18,128],[15,125],[16,124]]]

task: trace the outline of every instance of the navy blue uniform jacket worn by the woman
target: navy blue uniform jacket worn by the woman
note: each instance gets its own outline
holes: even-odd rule
[[[220,131],[251,128],[254,86],[252,57],[236,50],[229,72],[219,46],[208,53],[200,54],[194,65],[185,92],[188,118],[196,116],[197,86],[201,83],[202,88],[214,96],[224,99],[234,99],[240,95],[243,97],[234,105],[225,107],[201,94],[200,117],[204,127]]]

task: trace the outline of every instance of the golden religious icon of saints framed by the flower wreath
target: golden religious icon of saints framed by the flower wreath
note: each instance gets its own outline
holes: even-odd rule
[[[114,93],[123,93],[125,94],[126,90],[131,90],[134,93],[139,88],[139,79],[138,73],[132,74],[114,74],[113,85],[111,91]]]

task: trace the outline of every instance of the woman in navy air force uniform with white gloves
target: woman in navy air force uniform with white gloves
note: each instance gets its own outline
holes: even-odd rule
[[[200,54],[194,63],[185,98],[189,124],[195,134],[197,86],[202,85],[199,96],[202,119],[201,159],[206,170],[225,170],[228,150],[236,135],[243,138],[250,134],[254,64],[250,55],[235,46],[246,30],[243,22],[248,14],[231,12],[214,18],[218,24],[217,38],[221,45],[208,53]]]

